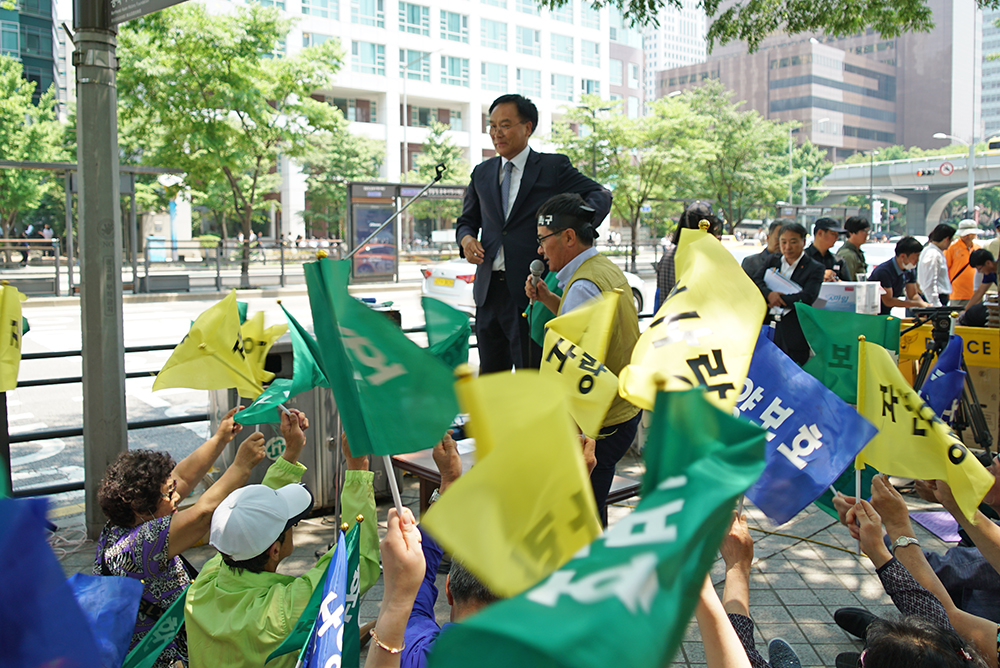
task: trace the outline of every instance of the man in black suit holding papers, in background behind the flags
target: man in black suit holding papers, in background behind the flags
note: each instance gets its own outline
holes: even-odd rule
[[[778,235],[780,253],[776,254],[757,271],[754,283],[760,288],[761,294],[776,315],[777,324],[774,328],[774,343],[796,364],[802,366],[809,361],[809,344],[799,326],[799,317],[795,305],[803,303],[812,305],[819,296],[823,285],[823,274],[826,267],[804,253],[806,245],[806,228],[799,223],[788,223],[781,228]],[[799,292],[779,293],[768,287],[764,277],[768,269],[774,269],[788,280],[801,287]],[[785,309],[791,309],[782,313]]]

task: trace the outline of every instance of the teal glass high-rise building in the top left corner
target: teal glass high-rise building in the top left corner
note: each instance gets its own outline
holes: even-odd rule
[[[36,84],[36,102],[57,83],[55,47],[51,0],[17,0],[14,9],[0,7],[0,55],[21,61],[24,78]]]

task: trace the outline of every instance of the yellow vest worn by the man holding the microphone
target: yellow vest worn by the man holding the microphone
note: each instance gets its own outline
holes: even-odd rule
[[[617,376],[621,370],[632,361],[632,348],[639,340],[639,316],[635,312],[635,301],[632,299],[632,288],[625,280],[625,274],[603,255],[595,255],[581,264],[566,284],[563,295],[569,294],[573,283],[586,279],[600,288],[601,292],[613,292],[616,289],[622,291],[618,300],[618,312],[615,314],[614,322],[611,325],[611,337],[608,339],[608,351],[605,353],[604,366],[611,369]],[[562,303],[559,304],[559,313],[562,315]],[[639,408],[630,404],[618,395],[611,402],[608,414],[604,418],[604,426],[610,427],[630,420]]]

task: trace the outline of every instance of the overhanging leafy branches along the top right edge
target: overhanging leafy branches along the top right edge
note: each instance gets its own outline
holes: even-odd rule
[[[570,0],[538,0],[542,7],[555,9]],[[683,0],[592,0],[594,7],[605,5],[622,12],[626,21],[637,25],[658,25],[657,14],[663,9],[686,9]],[[1000,0],[976,0],[981,9],[998,9]],[[720,10],[720,6],[726,9]],[[771,2],[723,3],[721,0],[699,0],[696,7],[704,9],[711,21],[706,35],[709,51],[716,43],[743,40],[750,51],[768,35],[784,32],[790,35],[819,32],[843,37],[874,30],[882,37],[898,37],[906,32],[928,32],[934,27],[926,0],[831,0],[830,2]]]

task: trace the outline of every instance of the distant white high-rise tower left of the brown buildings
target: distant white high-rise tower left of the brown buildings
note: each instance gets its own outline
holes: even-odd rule
[[[696,0],[682,0],[680,9],[665,7],[660,10],[657,19],[659,25],[647,26],[642,35],[643,51],[646,54],[647,101],[657,97],[657,70],[703,63],[708,56],[705,10]]]

